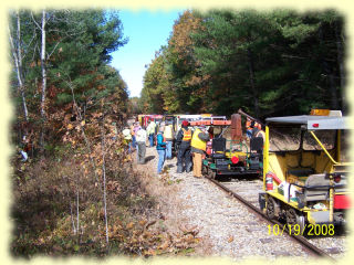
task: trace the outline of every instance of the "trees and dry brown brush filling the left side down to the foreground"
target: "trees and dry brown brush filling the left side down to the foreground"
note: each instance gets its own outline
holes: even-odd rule
[[[152,200],[123,167],[128,91],[110,66],[122,26],[103,10],[9,14],[14,256],[136,253],[125,225]]]

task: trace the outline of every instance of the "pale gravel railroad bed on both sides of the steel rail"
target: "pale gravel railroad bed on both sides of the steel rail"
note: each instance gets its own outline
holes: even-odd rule
[[[147,148],[146,157],[154,157],[147,165],[154,172],[157,168],[157,152],[155,148]],[[274,235],[270,232],[269,223],[258,214],[250,211],[235,198],[216,187],[208,179],[197,179],[190,173],[176,173],[176,158],[167,160],[165,167],[173,184],[178,186],[178,199],[183,208],[176,214],[188,225],[197,225],[198,236],[211,243],[211,256],[228,256],[232,259],[260,257],[274,259],[289,256],[299,258],[300,262],[312,258],[312,254],[291,240],[289,235]],[[246,200],[258,205],[258,191],[261,190],[260,180],[235,180],[227,183],[238,190]],[[250,192],[244,192],[248,190]],[[177,210],[176,210],[177,211]],[[334,258],[344,255],[345,237],[314,239],[316,244]]]

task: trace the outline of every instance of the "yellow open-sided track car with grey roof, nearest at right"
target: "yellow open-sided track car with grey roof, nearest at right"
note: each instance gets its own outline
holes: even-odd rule
[[[260,206],[289,225],[344,224],[350,120],[337,110],[312,114],[266,119]]]

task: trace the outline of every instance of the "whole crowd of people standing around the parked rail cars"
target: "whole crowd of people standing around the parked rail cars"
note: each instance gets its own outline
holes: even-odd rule
[[[149,147],[156,144],[158,153],[157,173],[160,174],[166,159],[171,159],[173,147],[173,125],[168,123],[160,123],[159,125],[149,120],[146,129],[134,123],[131,128],[125,127],[123,130],[124,140],[128,148],[128,152],[137,150],[137,163],[145,163],[146,141],[148,140]],[[156,136],[156,137],[155,137]],[[247,136],[263,137],[264,131],[259,124],[247,120]],[[210,140],[210,134],[205,125],[198,126],[195,130],[189,128],[189,123],[184,120],[181,128],[176,137],[176,145],[178,146],[177,152],[177,173],[184,171],[190,172],[196,178],[201,178],[202,158],[205,157],[207,142]]]

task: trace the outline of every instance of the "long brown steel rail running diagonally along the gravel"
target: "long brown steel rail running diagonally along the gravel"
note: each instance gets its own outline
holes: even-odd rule
[[[335,258],[333,258],[332,256],[330,256],[327,253],[325,253],[324,251],[320,250],[319,247],[316,247],[315,245],[311,244],[305,237],[300,236],[300,235],[295,235],[295,234],[291,234],[289,232],[289,230],[287,229],[287,226],[284,227],[284,225],[275,220],[271,220],[269,219],[260,209],[258,209],[257,206],[252,205],[250,202],[248,202],[247,200],[244,200],[242,197],[240,197],[239,194],[237,194],[236,192],[231,191],[229,188],[225,187],[223,184],[221,184],[220,182],[216,181],[215,179],[211,179],[209,177],[205,177],[206,179],[210,180],[211,182],[214,182],[216,186],[218,186],[219,188],[221,188],[223,191],[228,192],[230,195],[232,195],[233,198],[236,198],[238,201],[240,201],[241,203],[243,203],[246,206],[248,206],[250,210],[252,210],[254,213],[257,213],[258,215],[260,215],[262,219],[264,219],[266,221],[268,221],[269,223],[272,224],[278,224],[282,230],[287,231],[287,234],[295,240],[296,242],[299,242],[301,245],[303,245],[308,251],[310,251],[312,254],[316,255],[316,256],[321,256],[321,257],[325,257],[329,258],[330,261],[336,262]]]

